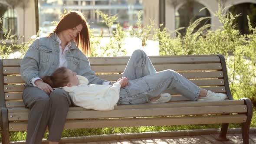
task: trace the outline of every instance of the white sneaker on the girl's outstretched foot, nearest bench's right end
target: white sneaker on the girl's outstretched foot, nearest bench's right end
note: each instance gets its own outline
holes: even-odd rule
[[[225,94],[208,91],[206,97],[198,98],[197,101],[223,101]]]

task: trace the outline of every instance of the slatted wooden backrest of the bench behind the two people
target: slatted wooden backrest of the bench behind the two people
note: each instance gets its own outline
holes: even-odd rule
[[[98,77],[116,81],[121,77],[129,57],[89,57],[91,69]],[[230,94],[225,59],[221,55],[150,56],[157,71],[173,69],[196,85],[213,92]],[[20,77],[21,59],[0,61],[0,104],[1,107],[24,107],[22,92],[24,81]],[[167,90],[167,92],[170,92]],[[187,101],[182,95],[170,92],[171,101]]]

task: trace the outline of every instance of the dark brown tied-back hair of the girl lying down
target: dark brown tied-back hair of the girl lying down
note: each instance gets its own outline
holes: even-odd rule
[[[67,68],[60,67],[56,69],[51,76],[44,76],[43,82],[50,85],[52,88],[59,88],[66,86],[69,83],[69,76],[67,75]]]

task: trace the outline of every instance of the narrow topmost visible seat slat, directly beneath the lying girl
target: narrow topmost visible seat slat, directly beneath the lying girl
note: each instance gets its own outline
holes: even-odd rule
[[[223,106],[223,105],[244,105],[243,100],[225,100],[225,101],[179,101],[164,104],[141,104],[141,105],[117,105],[115,110],[122,109],[148,109],[148,108],[182,108],[182,107],[203,107],[203,106]],[[7,108],[9,113],[28,112],[28,108]],[[70,107],[69,111],[94,111],[82,107]]]

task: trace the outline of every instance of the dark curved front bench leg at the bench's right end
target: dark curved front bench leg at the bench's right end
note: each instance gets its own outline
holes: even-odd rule
[[[241,98],[244,100],[245,105],[247,106],[247,119],[246,122],[242,123],[242,137],[243,137],[243,144],[249,144],[249,129],[251,120],[253,117],[253,104],[249,98]]]

